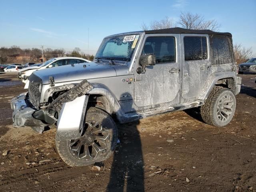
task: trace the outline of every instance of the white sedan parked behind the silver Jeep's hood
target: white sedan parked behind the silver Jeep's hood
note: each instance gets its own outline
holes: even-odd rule
[[[28,77],[36,70],[42,70],[46,68],[51,68],[51,67],[58,67],[58,66],[63,66],[63,65],[72,65],[76,63],[88,63],[91,62],[87,59],[84,58],[79,58],[79,57],[57,57],[57,58],[52,58],[50,60],[47,60],[40,66],[31,66],[31,67],[26,67],[23,70],[19,71],[18,78],[21,82],[25,83],[28,81]]]

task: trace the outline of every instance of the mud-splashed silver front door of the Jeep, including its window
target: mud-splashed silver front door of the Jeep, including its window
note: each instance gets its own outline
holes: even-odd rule
[[[141,54],[155,54],[156,65],[135,74],[136,106],[156,107],[174,100],[180,90],[180,38],[178,34],[146,35]],[[139,66],[137,66],[139,67]]]

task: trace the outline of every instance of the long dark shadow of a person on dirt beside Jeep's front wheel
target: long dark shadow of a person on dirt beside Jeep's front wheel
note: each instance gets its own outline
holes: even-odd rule
[[[133,110],[131,106],[126,107]],[[139,121],[117,124],[120,143],[114,152],[108,192],[144,192],[144,160],[138,124]]]

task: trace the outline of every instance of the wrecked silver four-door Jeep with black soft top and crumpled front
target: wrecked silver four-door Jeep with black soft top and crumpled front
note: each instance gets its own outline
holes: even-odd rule
[[[131,122],[193,107],[225,126],[236,109],[232,35],[168,28],[104,38],[88,64],[35,71],[28,92],[12,99],[14,126],[42,132],[56,124],[56,148],[70,166],[106,160],[114,151],[115,121]]]

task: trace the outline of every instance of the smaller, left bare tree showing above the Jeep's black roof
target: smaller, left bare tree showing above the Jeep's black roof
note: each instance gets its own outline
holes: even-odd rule
[[[150,23],[150,27],[147,26],[144,22],[141,24],[142,30],[156,30],[156,29],[166,29],[176,27],[176,22],[172,18],[166,16],[164,19],[157,21],[154,20]]]

